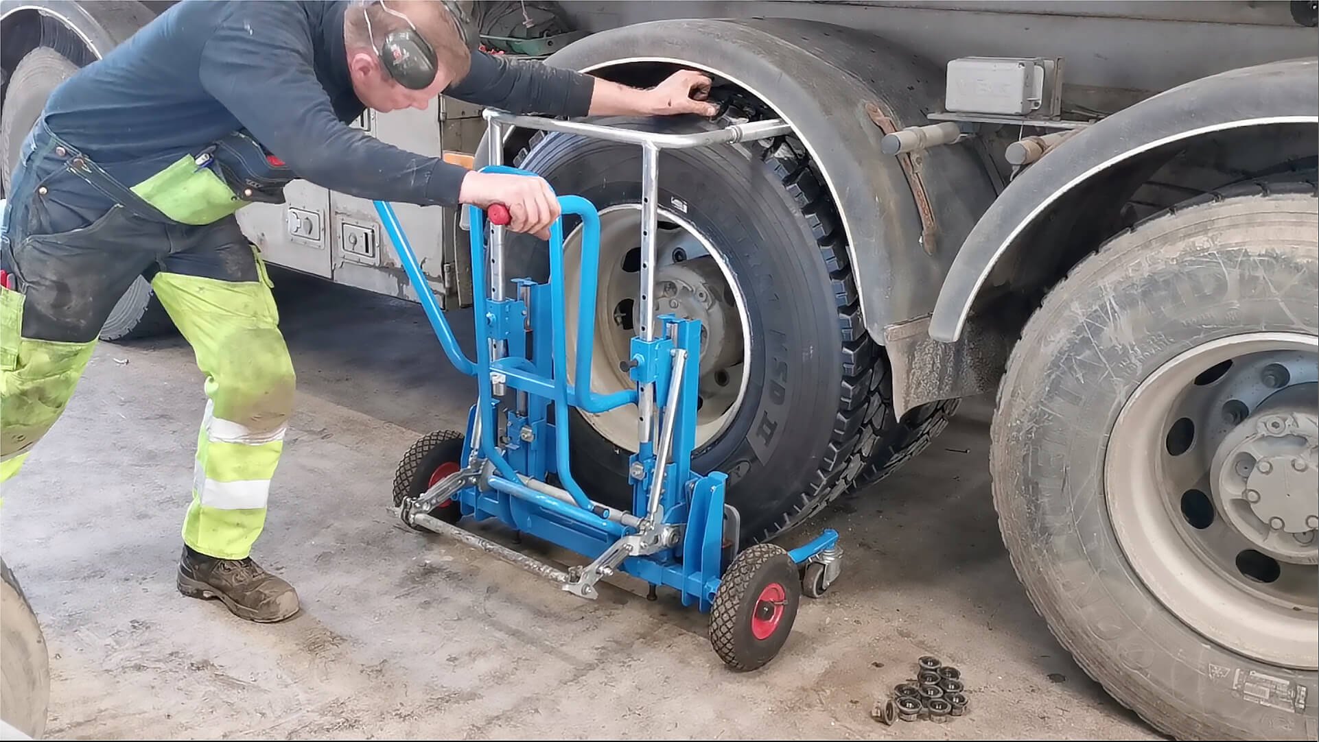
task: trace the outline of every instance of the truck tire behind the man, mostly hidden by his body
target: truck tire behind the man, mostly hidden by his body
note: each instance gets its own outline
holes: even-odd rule
[[[9,194],[11,178],[18,167],[22,141],[37,123],[46,99],[59,83],[78,71],[67,57],[49,46],[29,51],[13,71],[0,113],[0,166],[4,167],[4,191]],[[102,340],[133,340],[160,335],[173,327],[146,278],[137,281],[111,310],[100,331]]]

